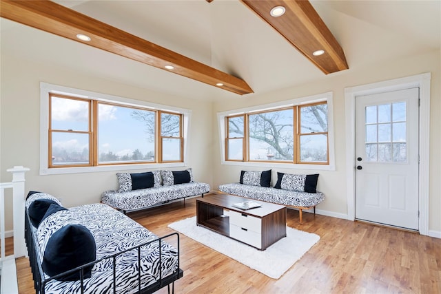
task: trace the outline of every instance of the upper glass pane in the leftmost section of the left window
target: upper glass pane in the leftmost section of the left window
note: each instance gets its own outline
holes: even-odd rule
[[[51,129],[89,132],[89,101],[52,96]]]

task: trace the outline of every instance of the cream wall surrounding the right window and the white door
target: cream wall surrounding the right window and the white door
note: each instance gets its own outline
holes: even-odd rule
[[[441,238],[441,52],[427,52],[419,56],[411,56],[407,59],[371,65],[364,69],[349,69],[336,74],[323,76],[321,81],[314,81],[298,87],[293,87],[276,92],[258,94],[256,96],[244,96],[237,101],[215,103],[213,112],[213,132],[218,134],[216,125],[216,114],[229,109],[240,109],[243,107],[263,105],[271,102],[285,101],[292,98],[311,96],[324,92],[334,92],[334,142],[336,154],[336,171],[314,171],[282,169],[274,165],[272,180],[276,180],[276,171],[291,173],[313,173],[320,174],[318,189],[325,193],[325,201],[317,207],[322,213],[330,216],[346,218],[347,216],[347,182],[346,182],[346,122],[345,122],[345,87],[365,85],[379,81],[387,81],[404,76],[413,76],[424,72],[431,72],[431,129],[430,129],[430,216],[429,231]],[[351,67],[349,61],[349,67]],[[214,146],[214,185],[227,182],[238,182],[240,170],[252,170],[250,167],[240,167],[220,164],[219,138],[216,138]],[[259,170],[268,169],[262,167]]]

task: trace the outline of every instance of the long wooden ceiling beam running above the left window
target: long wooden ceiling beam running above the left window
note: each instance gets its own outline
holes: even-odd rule
[[[216,70],[203,63],[134,36],[111,25],[81,14],[52,1],[1,0],[0,17],[17,21],[32,28],[57,34],[92,47],[112,52],[129,59],[152,65],[196,81],[236,94],[249,94],[253,90],[240,78]],[[90,36],[90,41],[77,39],[77,34]],[[117,69],[115,69],[117,70]],[[216,83],[223,83],[217,86]]]

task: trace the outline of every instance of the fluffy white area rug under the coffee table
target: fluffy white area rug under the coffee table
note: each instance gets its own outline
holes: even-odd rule
[[[168,227],[273,279],[281,277],[311,246],[320,240],[320,237],[314,233],[287,227],[286,238],[278,240],[265,251],[260,251],[209,229],[196,226],[196,216],[174,222]]]

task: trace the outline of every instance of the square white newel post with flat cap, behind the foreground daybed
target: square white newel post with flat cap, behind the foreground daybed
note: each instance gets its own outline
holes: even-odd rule
[[[25,171],[27,167],[13,167],[6,171],[12,172],[12,197],[14,211],[14,258],[25,256]]]

